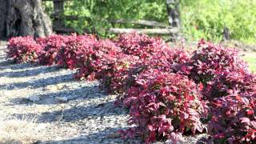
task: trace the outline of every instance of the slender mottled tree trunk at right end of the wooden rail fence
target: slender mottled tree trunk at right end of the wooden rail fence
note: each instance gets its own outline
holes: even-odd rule
[[[178,0],[166,0],[166,7],[168,13],[168,20],[170,26],[180,29],[181,22],[180,22],[180,13],[179,13],[179,2]],[[178,34],[171,35],[171,41],[175,41],[178,38]]]

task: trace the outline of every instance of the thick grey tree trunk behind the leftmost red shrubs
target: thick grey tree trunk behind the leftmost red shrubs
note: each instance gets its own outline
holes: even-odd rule
[[[46,37],[52,33],[50,18],[40,0],[0,0],[0,38]]]

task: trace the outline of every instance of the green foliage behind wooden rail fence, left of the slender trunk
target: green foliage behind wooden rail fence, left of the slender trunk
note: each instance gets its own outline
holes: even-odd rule
[[[139,27],[129,24],[112,24],[114,19],[147,19],[168,24],[166,3],[163,0],[74,0],[66,2],[65,14],[78,16],[78,21],[66,21],[82,32],[84,28],[91,33],[107,36],[110,27]]]

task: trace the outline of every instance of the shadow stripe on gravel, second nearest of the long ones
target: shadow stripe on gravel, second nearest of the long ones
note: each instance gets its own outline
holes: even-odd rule
[[[90,86],[81,86],[79,88],[69,90],[65,87],[64,90],[57,90],[55,92],[48,92],[44,91],[46,94],[33,94],[28,95],[26,98],[13,98],[10,100],[11,105],[32,105],[32,104],[38,104],[38,105],[50,105],[50,104],[57,104],[58,102],[55,100],[57,97],[66,97],[68,102],[70,101],[76,101],[79,99],[90,99],[90,98],[102,98],[105,97],[104,94],[102,94],[101,90],[98,89],[98,85],[90,85]],[[66,90],[65,90],[66,89]],[[40,98],[37,102],[32,102],[27,98],[30,98],[31,96],[35,96]]]

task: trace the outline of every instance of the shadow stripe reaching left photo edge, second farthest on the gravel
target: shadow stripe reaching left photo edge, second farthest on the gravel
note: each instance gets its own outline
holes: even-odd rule
[[[0,89],[6,90],[14,90],[14,89],[22,89],[26,87],[31,87],[34,89],[48,86],[48,85],[57,85],[62,82],[72,82],[75,81],[74,74],[62,74],[49,78],[42,78],[31,82],[14,82],[12,84],[0,85]]]

